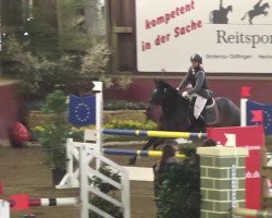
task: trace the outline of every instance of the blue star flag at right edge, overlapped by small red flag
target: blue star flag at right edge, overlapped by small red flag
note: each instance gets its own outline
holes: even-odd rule
[[[272,105],[262,105],[248,100],[246,108],[247,125],[263,124],[265,135],[272,135]]]

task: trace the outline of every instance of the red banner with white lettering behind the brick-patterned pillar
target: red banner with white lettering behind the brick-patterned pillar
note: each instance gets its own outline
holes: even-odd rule
[[[207,130],[209,138],[225,146],[248,147],[249,157],[246,158],[246,208],[260,209],[261,178],[260,148],[264,146],[262,126],[210,128]]]

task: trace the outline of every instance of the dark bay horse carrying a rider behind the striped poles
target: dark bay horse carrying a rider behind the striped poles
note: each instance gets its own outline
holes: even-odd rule
[[[158,131],[176,131],[176,132],[205,132],[206,126],[191,120],[190,100],[183,98],[178,92],[170,84],[162,80],[154,80],[156,88],[153,89],[149,105],[161,106],[162,114],[159,119]],[[238,126],[240,123],[239,108],[230,99],[224,97],[215,98],[218,104],[217,122],[207,126]],[[153,146],[153,149],[165,138],[150,137],[147,144],[143,147],[144,150]],[[136,162],[136,157],[129,159],[129,164]]]

